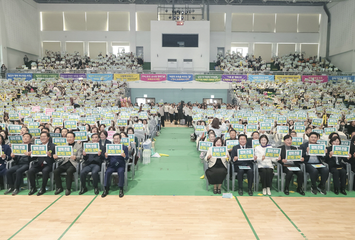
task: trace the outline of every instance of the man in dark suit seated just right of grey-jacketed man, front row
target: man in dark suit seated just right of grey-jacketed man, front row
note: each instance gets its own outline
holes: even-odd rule
[[[98,134],[91,135],[91,141],[93,143],[99,142],[99,135]],[[80,181],[81,181],[82,188],[79,192],[79,195],[84,194],[85,192],[88,191],[88,189],[86,188],[85,180],[86,180],[86,176],[90,171],[91,171],[91,176],[92,176],[92,181],[94,186],[94,193],[96,195],[99,194],[99,188],[98,188],[98,183],[100,179],[99,172],[101,171],[101,164],[105,159],[106,146],[103,146],[100,143],[99,148],[100,151],[98,154],[87,154],[83,151],[84,161],[86,161],[86,163],[85,163],[85,167],[80,172]]]

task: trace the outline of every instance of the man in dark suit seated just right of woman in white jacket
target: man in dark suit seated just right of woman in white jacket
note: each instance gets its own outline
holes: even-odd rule
[[[280,153],[280,157],[281,160],[279,160],[278,162],[283,165],[283,171],[284,173],[286,173],[285,176],[285,187],[284,187],[284,194],[288,195],[289,194],[289,186],[291,183],[291,178],[293,174],[297,175],[297,192],[300,193],[301,195],[304,195],[304,191],[302,190],[302,186],[303,186],[303,171],[291,171],[288,168],[289,167],[300,167],[301,164],[298,163],[297,161],[287,161],[286,160],[286,151],[287,150],[297,150],[296,147],[291,146],[292,144],[292,137],[290,135],[286,135],[284,136],[284,145],[280,146],[279,148],[281,148],[281,153]],[[303,157],[301,158],[301,162],[303,161]]]

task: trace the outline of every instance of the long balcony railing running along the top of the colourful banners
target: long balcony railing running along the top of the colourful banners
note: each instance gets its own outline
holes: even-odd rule
[[[80,70],[80,69],[6,69],[5,73],[101,73],[101,74],[254,74],[254,75],[328,75],[328,76],[349,76],[355,72],[304,72],[304,71],[210,71],[210,70]]]

